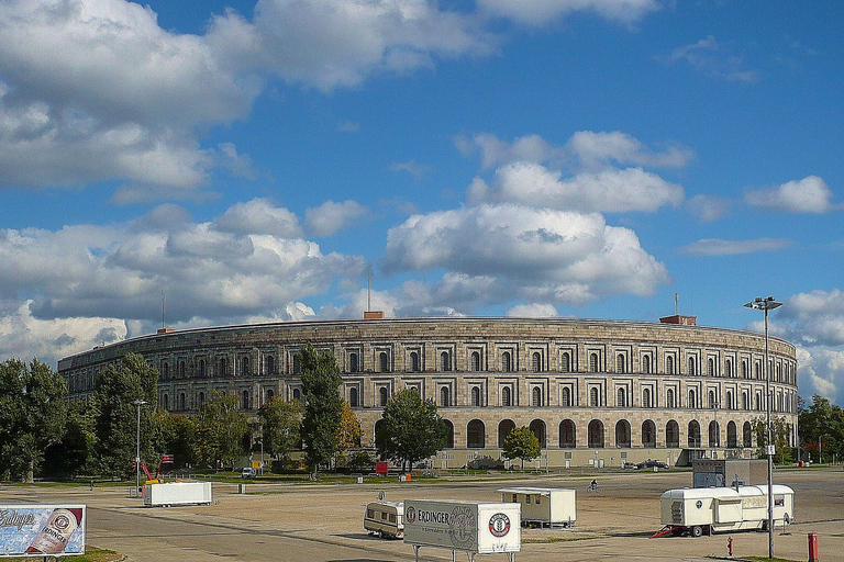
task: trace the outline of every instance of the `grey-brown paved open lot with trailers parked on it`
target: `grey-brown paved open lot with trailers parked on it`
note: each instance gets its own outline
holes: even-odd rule
[[[591,476],[530,480],[452,479],[436,484],[265,485],[214,484],[214,505],[145,508],[125,487],[0,486],[0,503],[84,503],[88,543],[116,550],[131,562],[231,561],[404,562],[413,549],[402,541],[369,537],[362,527],[364,506],[384,491],[387,499],[454,498],[499,502],[508,485],[547,485],[577,490],[574,529],[524,529],[519,561],[585,560],[701,561],[726,558],[726,535],[692,538],[649,536],[660,528],[659,495],[691,483],[689,472],[599,474],[600,494],[585,491]],[[795,488],[795,525],[777,530],[775,553],[808,560],[808,533],[817,532],[822,561],[844,560],[844,472],[777,471],[775,482]],[[732,535],[736,558],[765,557],[766,532]],[[448,551],[422,549],[420,560],[451,560]],[[462,555],[458,555],[462,559]],[[507,560],[503,554],[478,557]]]

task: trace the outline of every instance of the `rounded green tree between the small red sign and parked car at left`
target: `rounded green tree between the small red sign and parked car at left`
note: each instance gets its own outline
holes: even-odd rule
[[[249,426],[240,404],[236,394],[214,391],[199,412],[198,457],[206,465],[234,467],[243,456],[243,439]]]

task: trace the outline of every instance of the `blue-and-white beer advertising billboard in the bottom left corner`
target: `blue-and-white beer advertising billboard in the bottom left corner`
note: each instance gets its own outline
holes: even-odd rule
[[[0,505],[0,557],[85,554],[84,505]]]

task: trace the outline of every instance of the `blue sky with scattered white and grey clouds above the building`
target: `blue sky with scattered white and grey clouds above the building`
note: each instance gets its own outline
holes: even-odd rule
[[[762,329],[844,404],[844,5],[0,2],[0,358],[248,322]]]

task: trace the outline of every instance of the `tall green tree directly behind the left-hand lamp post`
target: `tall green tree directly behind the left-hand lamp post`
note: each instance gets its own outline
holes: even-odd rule
[[[152,460],[154,451],[154,412],[157,402],[158,371],[137,353],[123,356],[110,364],[97,380],[95,400],[96,463],[100,474],[130,479],[137,448],[137,405],[141,406],[141,459]]]

